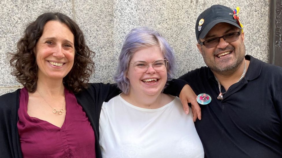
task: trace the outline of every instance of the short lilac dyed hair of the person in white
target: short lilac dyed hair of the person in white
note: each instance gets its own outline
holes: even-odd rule
[[[168,60],[167,81],[171,81],[173,79],[176,69],[175,55],[166,39],[160,36],[157,31],[153,31],[150,28],[134,28],[129,32],[123,42],[123,47],[118,58],[117,70],[114,75],[114,81],[118,84],[118,87],[123,91],[123,93],[128,94],[129,92],[130,85],[126,75],[130,59],[136,51],[151,46],[160,47],[164,58]],[[167,84],[168,82],[166,82],[166,85]]]

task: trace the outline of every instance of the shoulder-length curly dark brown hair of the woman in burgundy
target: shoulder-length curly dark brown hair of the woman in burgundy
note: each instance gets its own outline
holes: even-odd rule
[[[62,13],[44,13],[27,25],[23,38],[17,43],[17,52],[15,54],[10,53],[12,56],[10,64],[14,67],[11,74],[16,76],[16,80],[25,86],[29,92],[35,92],[38,66],[34,47],[42,36],[44,25],[51,20],[66,24],[74,35],[74,64],[70,72],[63,78],[63,83],[67,89],[79,92],[87,87],[89,77],[94,73],[92,57],[95,53],[85,44],[84,35],[78,25]]]

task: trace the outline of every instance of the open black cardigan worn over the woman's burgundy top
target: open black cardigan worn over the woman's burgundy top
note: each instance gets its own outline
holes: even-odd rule
[[[170,85],[164,93],[179,96],[187,82],[179,79],[175,81],[169,82]],[[0,96],[0,157],[23,157],[17,128],[20,90]],[[102,104],[119,93],[116,84],[89,83],[86,89],[75,94],[78,104],[82,106],[94,130],[97,158],[102,157],[99,145],[99,117]]]

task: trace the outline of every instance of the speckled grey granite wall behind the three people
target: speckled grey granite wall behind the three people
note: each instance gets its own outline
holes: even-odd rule
[[[96,53],[90,81],[107,83],[113,82],[123,39],[138,26],[157,30],[174,48],[178,64],[175,78],[205,66],[196,47],[194,28],[198,15],[214,4],[240,7],[246,54],[269,62],[270,0],[1,0],[0,95],[20,85],[10,75],[8,52],[16,51],[26,25],[44,12],[62,12],[77,22]]]

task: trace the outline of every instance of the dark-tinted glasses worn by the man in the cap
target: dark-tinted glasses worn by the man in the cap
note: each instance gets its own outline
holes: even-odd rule
[[[223,38],[224,41],[230,43],[230,42],[237,41],[239,39],[239,36],[240,36],[240,31],[229,33],[229,34],[223,35],[221,37],[215,37],[215,38],[207,39],[203,42],[199,41],[199,44],[204,45],[206,48],[212,48],[212,47],[216,47],[218,45],[220,38]]]

